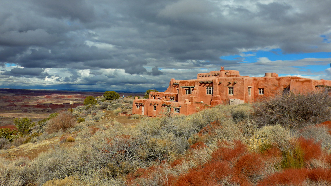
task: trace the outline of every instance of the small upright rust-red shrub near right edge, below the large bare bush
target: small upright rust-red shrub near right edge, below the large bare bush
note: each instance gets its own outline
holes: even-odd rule
[[[319,158],[322,154],[320,143],[314,143],[313,139],[305,139],[300,137],[298,144],[304,151],[304,160],[309,162],[313,158]]]

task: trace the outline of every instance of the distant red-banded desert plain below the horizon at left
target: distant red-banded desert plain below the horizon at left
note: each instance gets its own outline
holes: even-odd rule
[[[14,118],[31,118],[37,122],[50,114],[82,106],[87,96],[102,96],[104,92],[75,92],[65,90],[0,89],[0,128],[13,127]],[[143,93],[118,92],[120,96]]]

